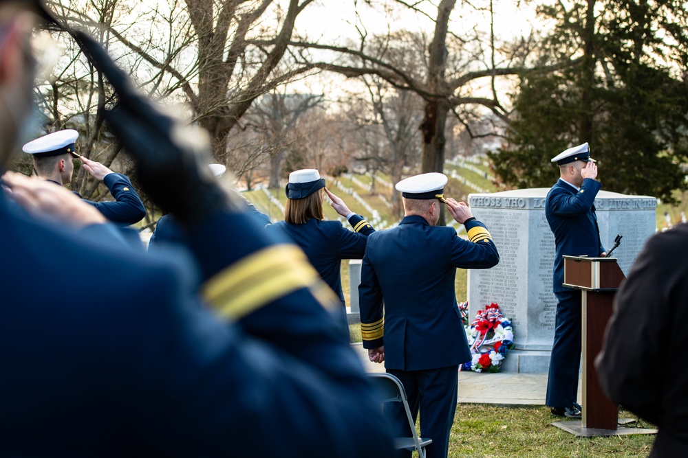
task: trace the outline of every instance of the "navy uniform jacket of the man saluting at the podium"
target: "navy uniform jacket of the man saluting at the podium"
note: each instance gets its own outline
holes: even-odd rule
[[[600,242],[594,201],[602,185],[590,178],[583,180],[581,190],[559,179],[545,202],[545,216],[555,234],[554,275],[552,287],[555,293],[571,288],[563,284],[563,255],[598,257],[605,249]]]

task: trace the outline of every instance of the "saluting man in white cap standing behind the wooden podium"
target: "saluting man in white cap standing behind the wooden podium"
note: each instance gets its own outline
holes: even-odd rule
[[[552,415],[581,417],[577,404],[578,373],[581,366],[581,291],[563,284],[563,255],[605,254],[600,242],[593,205],[602,185],[596,181],[597,165],[584,143],[552,158],[559,165],[559,181],[547,193],[545,216],[555,234],[553,282],[557,296],[555,340],[550,357],[545,403]]]

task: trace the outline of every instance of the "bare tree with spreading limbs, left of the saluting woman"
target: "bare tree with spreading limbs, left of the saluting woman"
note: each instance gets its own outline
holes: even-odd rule
[[[98,0],[95,0],[98,1]],[[70,0],[65,19],[103,27],[122,67],[151,94],[186,102],[192,122],[206,128],[217,157],[227,150],[228,133],[251,104],[308,65],[282,62],[294,21],[312,0],[289,0],[286,10],[272,0],[167,0],[156,3],[109,1],[112,17],[78,11]],[[135,16],[135,23],[126,19]],[[145,19],[145,20],[142,20]],[[271,37],[255,45],[250,38]]]

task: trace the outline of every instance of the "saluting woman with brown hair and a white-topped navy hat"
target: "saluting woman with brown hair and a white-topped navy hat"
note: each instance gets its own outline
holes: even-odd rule
[[[347,219],[353,231],[343,227],[339,221],[324,220],[323,192],[332,200],[334,211]],[[365,242],[375,229],[363,217],[351,211],[341,198],[327,190],[325,179],[316,169],[291,172],[286,196],[284,220],[268,226],[268,230],[281,230],[299,245],[320,277],[336,293],[341,302],[338,319],[343,338],[348,343],[349,323],[342,291],[341,261],[362,259]]]

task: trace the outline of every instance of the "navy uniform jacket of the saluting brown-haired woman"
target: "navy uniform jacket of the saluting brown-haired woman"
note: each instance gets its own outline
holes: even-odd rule
[[[356,214],[349,218],[349,223],[354,231],[346,229],[339,221],[321,221],[316,218],[311,218],[303,225],[279,221],[267,226],[270,231],[281,229],[303,249],[321,278],[339,296],[343,306],[341,260],[362,259],[365,242],[375,232],[366,220]]]

